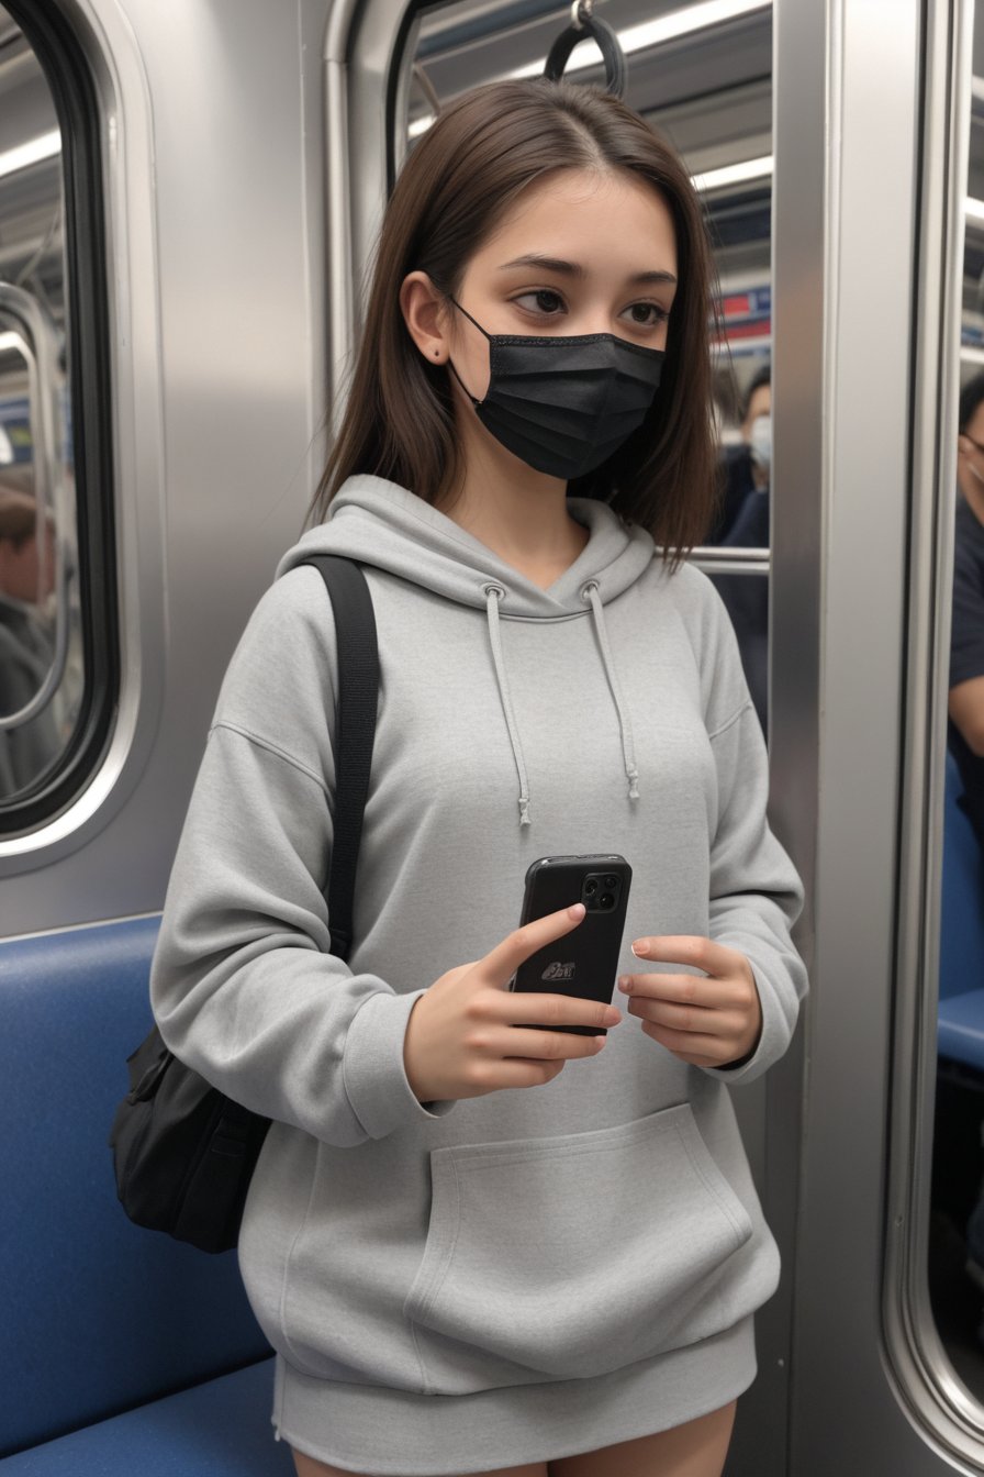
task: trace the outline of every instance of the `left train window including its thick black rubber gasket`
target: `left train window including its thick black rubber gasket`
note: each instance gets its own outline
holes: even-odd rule
[[[0,835],[78,793],[115,702],[99,118],[56,6],[0,6]]]

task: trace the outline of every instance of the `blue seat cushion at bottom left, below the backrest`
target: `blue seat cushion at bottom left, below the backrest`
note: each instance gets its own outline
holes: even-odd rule
[[[273,1360],[0,1461],[3,1477],[292,1477],[274,1442]]]

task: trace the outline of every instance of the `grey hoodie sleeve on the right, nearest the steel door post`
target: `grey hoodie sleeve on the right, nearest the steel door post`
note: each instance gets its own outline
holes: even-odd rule
[[[795,1029],[807,972],[791,929],[803,908],[803,883],[766,817],[769,758],[748,697],[727,616],[714,597],[714,674],[708,733],[717,770],[717,826],[711,837],[710,933],[748,959],[763,1027],[751,1058],[710,1069],[729,1086],[754,1081],[785,1053]]]

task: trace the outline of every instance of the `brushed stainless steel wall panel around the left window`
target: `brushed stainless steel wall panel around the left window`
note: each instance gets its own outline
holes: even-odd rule
[[[66,0],[105,108],[124,679],[7,933],[158,908],[229,654],[323,459],[326,4]]]

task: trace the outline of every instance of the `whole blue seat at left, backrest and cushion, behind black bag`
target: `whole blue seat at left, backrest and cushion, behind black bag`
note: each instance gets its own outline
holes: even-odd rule
[[[292,1470],[270,1436],[270,1347],[235,1252],[142,1230],[117,1202],[106,1134],[125,1058],[150,1028],[156,932],[158,919],[137,919],[0,944],[0,1465],[12,1473]],[[239,1428],[261,1433],[251,1461],[227,1445]]]

